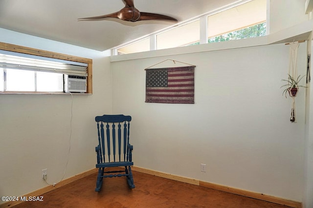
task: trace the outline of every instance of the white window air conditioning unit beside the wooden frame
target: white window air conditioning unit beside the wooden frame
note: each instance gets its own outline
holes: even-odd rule
[[[87,92],[87,77],[76,75],[64,75],[65,92]]]

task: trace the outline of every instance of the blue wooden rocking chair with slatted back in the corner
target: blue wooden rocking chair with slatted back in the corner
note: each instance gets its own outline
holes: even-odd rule
[[[133,146],[129,144],[131,120],[131,116],[124,115],[103,115],[95,117],[99,140],[99,145],[96,146],[96,168],[99,168],[99,171],[95,191],[101,190],[103,178],[107,177],[126,176],[129,187],[135,187],[131,169],[131,166],[134,165],[132,162]],[[115,129],[116,125],[117,130]],[[113,154],[111,155],[112,152]],[[116,155],[116,152],[118,155]],[[125,169],[121,170],[119,168],[118,170],[105,171],[106,167],[123,167]]]

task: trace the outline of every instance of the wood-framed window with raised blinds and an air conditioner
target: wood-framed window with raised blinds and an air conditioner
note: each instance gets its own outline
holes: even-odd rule
[[[92,94],[92,60],[0,42],[0,94]]]

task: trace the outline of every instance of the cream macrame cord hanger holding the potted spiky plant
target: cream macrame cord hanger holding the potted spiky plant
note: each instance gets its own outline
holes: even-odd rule
[[[288,74],[293,77],[293,79],[297,79],[298,77],[298,67],[297,67],[297,58],[298,58],[298,48],[299,42],[292,42],[290,43],[289,49],[289,69]],[[294,96],[291,96],[292,103],[291,103],[291,123],[296,123],[295,119],[295,98],[297,93]]]

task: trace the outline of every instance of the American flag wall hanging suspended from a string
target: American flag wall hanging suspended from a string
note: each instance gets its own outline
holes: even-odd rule
[[[146,103],[195,103],[194,65],[145,70]]]

